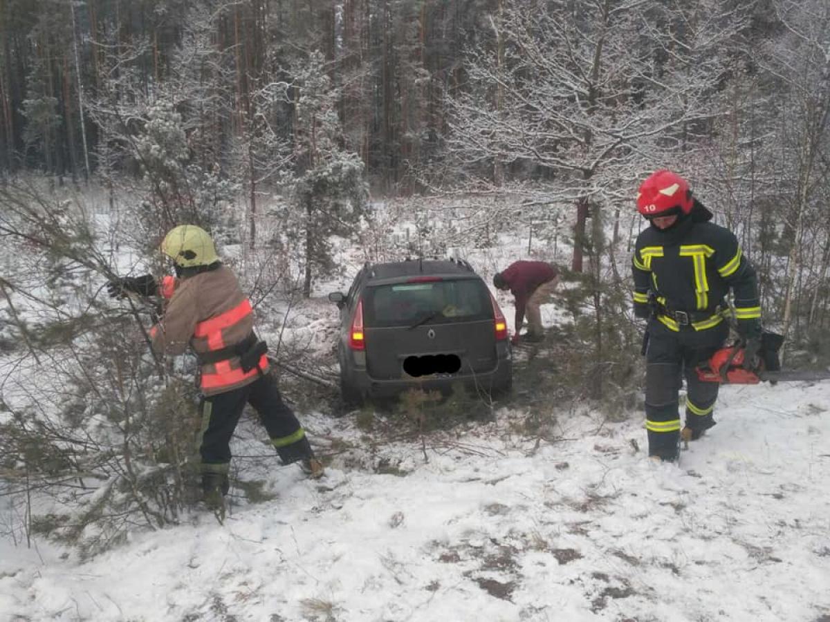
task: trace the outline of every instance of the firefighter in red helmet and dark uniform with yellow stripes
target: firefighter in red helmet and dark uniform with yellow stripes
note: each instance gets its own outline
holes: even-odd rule
[[[696,440],[715,425],[717,382],[697,378],[695,367],[721,347],[731,314],[747,365],[760,348],[761,307],[755,270],[728,229],[692,197],[685,179],[660,170],[642,183],[637,211],[650,223],[637,236],[632,258],[634,313],[648,318],[646,429],[648,454],[675,461],[681,437]],[[686,377],[686,425],[681,432],[678,391]]]

